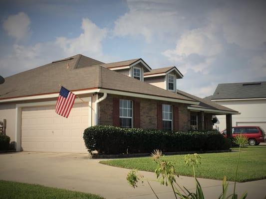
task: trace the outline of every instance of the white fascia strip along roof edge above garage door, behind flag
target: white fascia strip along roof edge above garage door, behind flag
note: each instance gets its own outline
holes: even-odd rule
[[[93,90],[83,90],[83,91],[73,91],[75,95],[81,95],[81,94],[91,94],[99,92],[99,89],[93,89]],[[11,101],[22,101],[22,100],[39,100],[39,99],[49,99],[49,98],[57,98],[59,95],[59,92],[56,94],[44,94],[44,95],[36,95],[36,96],[26,96],[26,97],[17,97],[17,98],[9,98],[9,99],[3,99],[0,100],[1,102],[11,102]]]

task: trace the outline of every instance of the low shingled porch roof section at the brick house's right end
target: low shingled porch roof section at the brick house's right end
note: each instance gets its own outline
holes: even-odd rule
[[[180,90],[177,90],[177,93],[180,94],[180,95],[183,95],[183,96],[186,96],[188,98],[191,98],[193,100],[197,100],[200,102],[199,105],[190,105],[192,107],[199,107],[199,108],[208,108],[208,109],[216,109],[216,110],[225,110],[225,111],[234,111],[234,112],[238,112],[236,110],[233,110],[231,108],[228,108],[226,106],[223,106],[223,105],[220,105],[218,103],[215,103],[211,100],[208,100],[208,99],[202,99],[202,98],[199,98],[199,97],[196,97],[196,96],[193,96],[191,94],[188,94],[184,91],[180,91]]]

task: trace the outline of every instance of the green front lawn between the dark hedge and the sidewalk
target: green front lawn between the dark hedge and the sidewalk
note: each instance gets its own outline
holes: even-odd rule
[[[238,150],[238,148],[232,148],[232,150]],[[266,146],[249,146],[242,148],[241,151],[237,182],[266,179]],[[179,175],[193,176],[192,169],[185,166],[184,156],[172,155],[165,156],[163,159],[174,162]],[[224,176],[227,176],[228,181],[234,181],[237,152],[206,153],[200,156],[202,163],[196,168],[197,177],[223,180]],[[151,157],[108,160],[100,163],[150,172],[154,172],[156,167]]]

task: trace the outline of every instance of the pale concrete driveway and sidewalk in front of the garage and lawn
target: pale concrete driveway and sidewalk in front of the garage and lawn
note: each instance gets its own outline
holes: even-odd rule
[[[18,152],[0,154],[0,179],[40,184],[47,187],[98,194],[106,199],[155,199],[147,184],[136,189],[126,182],[128,169],[110,167],[88,159],[87,154]],[[230,169],[230,168],[229,168]],[[154,173],[141,172],[155,179]],[[241,174],[240,174],[241,175]],[[218,198],[222,192],[222,181],[199,179],[208,199]],[[188,189],[195,188],[191,177],[180,176],[177,182]],[[151,185],[161,199],[174,199],[170,187]],[[230,184],[230,191],[233,184]],[[266,180],[237,184],[237,192],[248,191],[248,198],[266,196]]]

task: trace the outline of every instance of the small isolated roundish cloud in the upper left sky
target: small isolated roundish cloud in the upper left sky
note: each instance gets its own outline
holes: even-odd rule
[[[24,12],[19,12],[15,15],[10,15],[3,22],[3,29],[7,35],[14,37],[16,40],[21,40],[30,34],[30,19]]]

